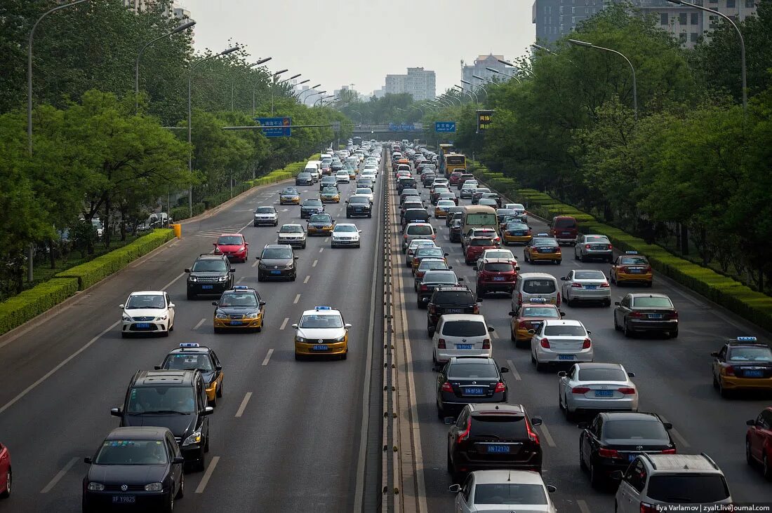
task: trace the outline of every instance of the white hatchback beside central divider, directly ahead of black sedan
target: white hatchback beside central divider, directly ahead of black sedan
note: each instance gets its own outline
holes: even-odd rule
[[[452,313],[440,316],[432,343],[434,363],[446,363],[452,356],[486,356],[493,358],[490,334],[485,317],[479,314]]]

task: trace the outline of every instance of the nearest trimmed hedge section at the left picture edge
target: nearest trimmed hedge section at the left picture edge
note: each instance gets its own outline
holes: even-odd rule
[[[52,278],[0,303],[0,335],[53,308],[77,290],[75,278]]]

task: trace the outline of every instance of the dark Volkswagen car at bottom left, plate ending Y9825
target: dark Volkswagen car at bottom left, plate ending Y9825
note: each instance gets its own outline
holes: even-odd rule
[[[185,494],[185,458],[166,427],[118,427],[84,461],[84,513],[115,506],[172,511]]]

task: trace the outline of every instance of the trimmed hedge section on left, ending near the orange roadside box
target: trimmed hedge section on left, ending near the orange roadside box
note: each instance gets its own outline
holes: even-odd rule
[[[60,272],[56,278],[76,278],[78,290],[88,289],[91,285],[126,267],[137,258],[147,255],[172,238],[174,238],[173,230],[165,228],[154,230],[153,233],[144,235],[144,237],[138,238],[123,248],[110,251],[90,262]]]

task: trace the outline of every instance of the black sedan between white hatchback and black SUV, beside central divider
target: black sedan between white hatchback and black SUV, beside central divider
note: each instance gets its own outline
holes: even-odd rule
[[[469,403],[506,403],[508,372],[493,358],[451,358],[437,374],[437,417],[455,417]]]

